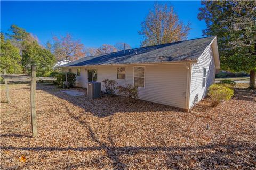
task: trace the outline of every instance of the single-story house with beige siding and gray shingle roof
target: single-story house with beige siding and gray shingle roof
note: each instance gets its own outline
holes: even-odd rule
[[[220,60],[213,36],[84,57],[61,67],[77,74],[79,87],[111,79],[137,85],[141,100],[188,111],[207,95]]]

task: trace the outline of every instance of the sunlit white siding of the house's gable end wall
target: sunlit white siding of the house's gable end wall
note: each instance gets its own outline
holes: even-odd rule
[[[203,70],[206,68],[206,83],[203,87]],[[215,62],[212,52],[212,46],[209,45],[202,56],[198,59],[198,63],[192,64],[191,68],[191,85],[189,108],[193,107],[202,98],[207,96],[208,87],[214,83],[215,79]]]

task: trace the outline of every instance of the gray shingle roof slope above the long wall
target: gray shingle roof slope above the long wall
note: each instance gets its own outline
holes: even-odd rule
[[[123,50],[105,53],[84,57],[61,67],[195,61],[214,38],[215,36],[134,48],[125,53]]]

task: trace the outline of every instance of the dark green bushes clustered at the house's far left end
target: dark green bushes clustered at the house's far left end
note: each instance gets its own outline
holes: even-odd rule
[[[57,80],[55,81],[60,87],[64,86],[64,82],[66,81],[65,73],[58,73],[55,75]],[[67,80],[68,80],[68,88],[76,86],[76,74],[67,72]]]

